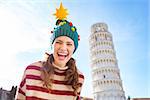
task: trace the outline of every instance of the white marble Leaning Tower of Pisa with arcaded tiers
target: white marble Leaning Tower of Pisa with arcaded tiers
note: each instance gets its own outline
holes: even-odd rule
[[[107,24],[92,25],[89,44],[94,100],[125,100],[112,34]]]

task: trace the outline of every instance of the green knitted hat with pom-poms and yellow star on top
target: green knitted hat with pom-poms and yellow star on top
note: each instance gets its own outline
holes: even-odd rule
[[[59,9],[56,8],[56,13],[54,14],[56,16],[56,28],[54,28],[54,31],[51,31],[52,34],[52,39],[51,42],[52,44],[54,43],[55,39],[59,36],[67,36],[71,38],[74,41],[75,45],[75,50],[78,48],[78,40],[79,40],[79,35],[77,33],[77,29],[71,22],[68,22],[66,19],[66,16],[68,15],[67,9],[65,9],[62,5],[60,4]]]

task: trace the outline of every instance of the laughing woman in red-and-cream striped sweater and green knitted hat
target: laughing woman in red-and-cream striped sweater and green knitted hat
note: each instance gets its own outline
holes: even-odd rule
[[[61,5],[62,6],[62,5]],[[60,6],[60,8],[61,8]],[[58,19],[52,32],[54,51],[47,61],[27,66],[17,99],[27,100],[77,100],[83,74],[72,58],[78,47],[78,33],[71,22]]]

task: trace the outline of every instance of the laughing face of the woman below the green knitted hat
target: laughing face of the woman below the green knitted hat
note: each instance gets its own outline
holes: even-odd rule
[[[54,41],[54,64],[65,67],[75,49],[74,41],[67,36],[60,36]]]

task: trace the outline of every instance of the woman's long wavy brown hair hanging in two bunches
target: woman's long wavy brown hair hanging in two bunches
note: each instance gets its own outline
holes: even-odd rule
[[[47,88],[51,88],[53,75],[54,75],[54,66],[52,65],[54,61],[53,54],[50,54],[47,58],[46,62],[43,62],[43,67],[41,69],[41,79],[44,81],[44,86]],[[75,59],[71,58],[66,66],[68,69],[66,70],[65,81],[68,85],[71,85],[74,89],[74,93],[77,95],[77,89],[80,87],[79,85],[79,74],[77,72]]]

